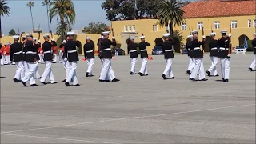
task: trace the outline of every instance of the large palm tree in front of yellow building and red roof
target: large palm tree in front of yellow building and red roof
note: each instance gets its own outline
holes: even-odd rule
[[[177,0],[165,0],[158,7],[158,24],[160,26],[166,26],[166,24],[170,26],[171,38],[174,36],[173,26],[181,26],[185,22],[183,18],[185,12],[181,9],[182,4]]]

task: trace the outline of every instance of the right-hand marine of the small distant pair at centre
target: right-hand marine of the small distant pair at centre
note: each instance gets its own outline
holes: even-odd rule
[[[148,58],[148,54],[146,51],[146,46],[151,46],[149,42],[145,41],[145,36],[140,37],[141,41],[138,44],[138,48],[141,51],[141,58],[142,58],[142,67],[141,70],[139,70],[139,75],[140,76],[147,76],[149,74],[147,74],[147,67],[146,67],[146,63],[147,63],[147,58]]]

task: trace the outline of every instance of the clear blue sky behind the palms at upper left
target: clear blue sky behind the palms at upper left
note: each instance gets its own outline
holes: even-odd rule
[[[40,27],[44,32],[48,32],[46,6],[42,6],[42,0],[31,0],[34,2],[32,8],[34,18],[34,28]],[[2,32],[8,34],[10,29],[14,29],[18,33],[18,29],[25,32],[32,30],[32,22],[30,17],[30,8],[26,6],[29,1],[26,0],[7,0],[10,6],[10,16],[2,18]],[[110,25],[106,20],[106,11],[102,10],[101,4],[103,0],[73,0],[76,10],[76,22],[72,26],[73,30],[80,30],[88,25],[89,22],[104,22]],[[57,18],[53,19],[50,24],[51,30],[54,32],[57,25]]]

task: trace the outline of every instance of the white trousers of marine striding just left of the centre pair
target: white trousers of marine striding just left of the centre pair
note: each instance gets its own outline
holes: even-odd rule
[[[113,80],[115,78],[114,70],[111,66],[111,59],[110,58],[102,58],[102,71],[100,74],[99,79],[101,80]]]

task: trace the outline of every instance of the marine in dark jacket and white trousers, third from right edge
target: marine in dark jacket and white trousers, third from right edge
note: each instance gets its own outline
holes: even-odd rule
[[[218,76],[218,72],[217,72],[217,63],[218,63],[218,40],[214,39],[215,38],[216,33],[212,32],[210,33],[210,42],[209,42],[209,49],[210,49],[210,61],[211,61],[211,66],[210,68],[206,71],[206,73],[208,74],[208,76],[210,77],[210,72],[214,72],[214,76],[217,77]]]

